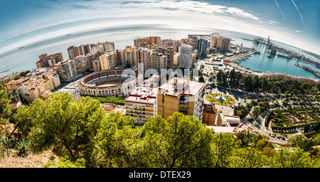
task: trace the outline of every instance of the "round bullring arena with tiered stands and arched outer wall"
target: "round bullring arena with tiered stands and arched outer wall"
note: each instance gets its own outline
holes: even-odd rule
[[[124,75],[123,71],[124,69],[103,70],[82,77],[78,83],[80,95],[126,97],[136,86],[138,77]],[[126,83],[122,87],[124,81]]]

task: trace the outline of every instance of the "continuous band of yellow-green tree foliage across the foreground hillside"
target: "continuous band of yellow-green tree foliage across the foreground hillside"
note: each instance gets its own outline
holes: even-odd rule
[[[253,105],[258,105],[253,103]],[[319,167],[320,137],[293,137],[294,148],[278,151],[268,137],[242,131],[220,133],[198,119],[176,112],[150,117],[142,127],[134,117],[103,111],[90,97],[72,101],[68,93],[36,100],[15,115],[33,152],[52,149],[60,159],[43,167],[260,168]],[[311,141],[306,141],[311,140]],[[18,146],[19,144],[17,144]],[[18,146],[28,151],[28,144]],[[26,153],[27,154],[27,153]]]

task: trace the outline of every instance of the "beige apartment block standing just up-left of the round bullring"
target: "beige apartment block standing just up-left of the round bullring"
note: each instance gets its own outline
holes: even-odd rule
[[[54,70],[58,73],[61,82],[69,82],[77,77],[74,60],[63,60],[54,65]]]

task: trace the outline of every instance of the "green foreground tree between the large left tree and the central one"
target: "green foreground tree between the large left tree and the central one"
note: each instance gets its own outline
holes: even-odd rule
[[[110,112],[102,119],[95,137],[97,162],[99,167],[140,167],[139,127],[133,128],[134,117],[119,112]]]

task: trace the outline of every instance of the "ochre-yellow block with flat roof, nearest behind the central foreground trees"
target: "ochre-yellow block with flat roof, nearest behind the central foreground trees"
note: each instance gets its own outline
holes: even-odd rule
[[[165,119],[174,114],[194,116],[201,120],[205,84],[174,77],[159,87],[158,114]]]

